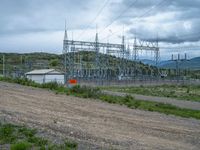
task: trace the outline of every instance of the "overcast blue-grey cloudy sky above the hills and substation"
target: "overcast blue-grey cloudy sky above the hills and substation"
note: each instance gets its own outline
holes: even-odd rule
[[[1,0],[0,52],[62,53],[69,38],[159,40],[161,58],[200,56],[200,0]],[[106,28],[107,27],[107,28]]]

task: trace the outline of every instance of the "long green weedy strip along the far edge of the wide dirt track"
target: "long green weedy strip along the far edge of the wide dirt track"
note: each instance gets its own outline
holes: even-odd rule
[[[132,96],[111,96],[101,93],[99,88],[91,88],[91,87],[81,87],[79,85],[74,86],[72,88],[66,88],[64,86],[58,85],[57,83],[46,83],[46,84],[37,84],[28,79],[12,79],[12,78],[0,78],[0,81],[7,81],[11,83],[18,83],[26,86],[33,86],[39,88],[50,89],[58,93],[73,95],[82,98],[93,98],[99,99],[104,102],[125,105],[132,109],[141,109],[147,111],[155,111],[164,114],[171,114],[185,118],[196,118],[200,119],[200,111],[199,110],[191,110],[185,108],[179,108],[170,104],[158,103],[158,102],[149,102],[149,101],[141,101],[136,100]]]

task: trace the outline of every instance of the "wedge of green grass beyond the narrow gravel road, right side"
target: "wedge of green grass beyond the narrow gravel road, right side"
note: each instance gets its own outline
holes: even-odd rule
[[[170,97],[179,100],[200,102],[200,85],[159,85],[140,87],[105,87],[103,89],[127,94]]]

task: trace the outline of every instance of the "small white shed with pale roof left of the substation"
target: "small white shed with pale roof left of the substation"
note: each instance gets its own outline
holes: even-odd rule
[[[26,77],[36,83],[57,82],[64,84],[64,73],[58,72],[55,69],[42,69],[27,72]]]

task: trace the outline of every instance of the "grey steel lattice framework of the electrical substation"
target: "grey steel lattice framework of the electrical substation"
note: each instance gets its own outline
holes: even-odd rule
[[[92,62],[83,61],[82,51],[93,52]],[[67,31],[63,40],[63,54],[65,65],[65,80],[70,78],[83,79],[116,79],[123,80],[134,78],[138,73],[137,64],[127,65],[128,61],[138,61],[139,51],[151,51],[154,53],[155,65],[159,61],[158,42],[144,42],[135,38],[134,44],[126,45],[125,37],[122,37],[121,44],[101,43],[96,33],[94,42],[69,40]],[[101,57],[104,55],[105,57]],[[113,67],[108,56],[114,56],[119,63]]]

